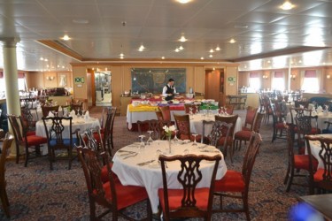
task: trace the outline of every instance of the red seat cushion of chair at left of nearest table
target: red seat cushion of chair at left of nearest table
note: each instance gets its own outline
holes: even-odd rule
[[[105,198],[108,201],[112,201],[112,193],[110,182],[106,182],[103,185]],[[134,205],[137,202],[148,199],[148,194],[144,187],[137,186],[123,186],[120,181],[115,182],[115,189],[117,195],[117,209],[122,210],[130,205]]]

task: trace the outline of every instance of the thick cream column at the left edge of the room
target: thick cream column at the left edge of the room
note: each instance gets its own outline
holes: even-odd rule
[[[20,115],[18,67],[16,60],[16,43],[19,42],[19,39],[0,38],[0,41],[3,42],[4,51],[4,84],[7,113]],[[12,133],[12,127],[10,126],[9,121],[8,128]],[[12,145],[11,156],[16,156],[14,144]]]

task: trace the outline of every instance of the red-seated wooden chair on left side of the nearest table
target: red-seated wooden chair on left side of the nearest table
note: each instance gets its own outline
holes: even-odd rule
[[[123,186],[119,180],[108,176],[108,181],[102,179],[102,165],[98,161],[97,152],[88,148],[77,148],[77,153],[84,171],[89,194],[90,220],[100,220],[107,213],[112,212],[112,220],[119,216],[127,217],[122,210],[138,202],[147,201],[148,219],[151,220],[151,206],[148,194],[144,187]],[[106,152],[101,153],[105,162],[108,162]],[[112,174],[111,167],[106,164],[107,174]],[[97,215],[97,205],[105,210]],[[133,220],[131,217],[127,217]]]

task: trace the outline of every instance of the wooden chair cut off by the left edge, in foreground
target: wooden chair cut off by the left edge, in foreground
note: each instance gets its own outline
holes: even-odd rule
[[[9,154],[9,150],[11,149],[12,146],[12,141],[14,140],[13,136],[11,133],[6,133],[4,136],[4,141],[3,141],[3,149],[2,153],[0,155],[0,198],[1,198],[1,203],[3,205],[4,209],[4,214],[7,217],[11,217],[11,213],[9,210],[9,200],[8,200],[8,195],[6,191],[6,179],[5,179],[5,171],[6,171],[6,157]]]

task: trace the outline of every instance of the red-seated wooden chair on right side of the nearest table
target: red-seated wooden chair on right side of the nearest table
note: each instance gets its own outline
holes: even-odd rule
[[[259,152],[261,143],[259,133],[251,132],[251,140],[243,158],[242,171],[228,170],[222,179],[215,181],[214,194],[220,196],[220,208],[212,212],[245,212],[247,220],[250,220],[248,194],[251,181],[251,171]],[[229,194],[232,193],[232,194]],[[242,199],[243,207],[239,209],[223,208],[223,197]]]

